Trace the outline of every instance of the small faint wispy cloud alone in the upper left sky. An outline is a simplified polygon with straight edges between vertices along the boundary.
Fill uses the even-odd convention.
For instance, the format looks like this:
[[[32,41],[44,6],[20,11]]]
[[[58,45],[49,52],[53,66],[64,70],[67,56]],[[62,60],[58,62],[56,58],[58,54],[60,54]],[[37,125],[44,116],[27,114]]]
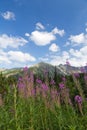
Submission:
[[[1,16],[6,20],[15,20],[15,14],[11,11],[1,13]]]

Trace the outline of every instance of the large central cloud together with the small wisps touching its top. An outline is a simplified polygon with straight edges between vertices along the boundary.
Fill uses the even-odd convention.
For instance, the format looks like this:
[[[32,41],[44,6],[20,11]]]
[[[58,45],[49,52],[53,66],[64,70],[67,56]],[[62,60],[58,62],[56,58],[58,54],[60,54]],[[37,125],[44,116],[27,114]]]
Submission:
[[[45,27],[40,23],[36,23],[36,30],[31,32],[29,38],[38,46],[45,46],[50,44],[52,41],[56,40],[56,34],[63,36],[65,34],[64,30],[60,30],[55,27],[50,32],[44,30]],[[28,35],[27,35],[28,36]]]

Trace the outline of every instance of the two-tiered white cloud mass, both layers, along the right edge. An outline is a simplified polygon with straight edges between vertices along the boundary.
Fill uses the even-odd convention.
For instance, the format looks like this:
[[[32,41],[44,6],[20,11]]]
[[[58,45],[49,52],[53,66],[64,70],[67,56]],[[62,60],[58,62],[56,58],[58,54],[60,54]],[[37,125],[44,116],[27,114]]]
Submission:
[[[87,31],[87,28],[85,31]],[[72,66],[85,66],[87,63],[87,33],[71,35],[65,46],[71,47],[70,45],[74,48],[75,46],[78,46],[78,48],[70,48],[67,49],[67,51],[61,51],[58,55],[50,55],[50,63],[53,65],[59,65],[65,64],[66,60],[68,60]]]

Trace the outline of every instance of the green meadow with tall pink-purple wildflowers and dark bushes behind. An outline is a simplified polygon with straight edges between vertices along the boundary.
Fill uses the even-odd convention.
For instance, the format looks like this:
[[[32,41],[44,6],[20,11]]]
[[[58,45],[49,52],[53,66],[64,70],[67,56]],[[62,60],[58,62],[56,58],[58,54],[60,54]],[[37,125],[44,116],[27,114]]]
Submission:
[[[87,73],[43,75],[0,76],[0,130],[87,130]]]

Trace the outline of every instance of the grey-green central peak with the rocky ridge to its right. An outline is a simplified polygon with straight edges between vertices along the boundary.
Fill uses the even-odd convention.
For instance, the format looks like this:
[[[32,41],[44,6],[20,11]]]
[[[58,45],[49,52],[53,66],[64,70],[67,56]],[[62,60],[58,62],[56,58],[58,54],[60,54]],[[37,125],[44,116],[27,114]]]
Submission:
[[[30,67],[30,70],[33,71],[33,73],[43,73],[45,70],[49,72],[49,75],[54,76],[55,71],[57,74],[61,75],[70,75],[71,73],[82,73],[81,69],[85,69],[87,72],[87,67],[74,67],[74,66],[69,66],[69,65],[58,65],[58,66],[53,66],[51,64],[45,63],[45,62],[40,62],[32,67]]]

